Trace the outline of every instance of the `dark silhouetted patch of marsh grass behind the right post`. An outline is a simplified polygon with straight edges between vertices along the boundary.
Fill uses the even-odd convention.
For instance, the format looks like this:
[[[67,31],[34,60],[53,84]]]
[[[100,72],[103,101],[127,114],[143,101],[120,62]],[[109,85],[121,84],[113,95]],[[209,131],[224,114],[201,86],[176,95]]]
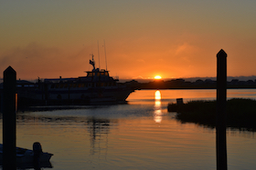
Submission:
[[[168,105],[176,111],[176,119],[198,125],[216,125],[216,101],[190,101],[187,104]],[[233,98],[227,101],[227,127],[256,131],[256,101]]]

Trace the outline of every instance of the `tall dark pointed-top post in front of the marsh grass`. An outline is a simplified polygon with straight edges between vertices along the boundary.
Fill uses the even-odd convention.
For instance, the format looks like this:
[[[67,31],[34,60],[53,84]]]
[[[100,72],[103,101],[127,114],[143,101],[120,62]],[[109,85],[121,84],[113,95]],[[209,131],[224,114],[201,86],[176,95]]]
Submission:
[[[217,119],[216,151],[217,170],[227,170],[227,54],[223,49],[217,54]]]

